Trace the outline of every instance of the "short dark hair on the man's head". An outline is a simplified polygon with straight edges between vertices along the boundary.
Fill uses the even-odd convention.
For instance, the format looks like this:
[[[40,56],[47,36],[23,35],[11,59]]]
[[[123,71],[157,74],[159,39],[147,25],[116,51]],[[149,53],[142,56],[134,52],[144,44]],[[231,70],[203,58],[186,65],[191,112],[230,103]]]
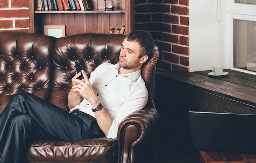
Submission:
[[[148,56],[149,58],[153,55],[154,40],[148,31],[132,31],[127,36],[128,41],[138,42],[142,47],[140,50],[139,58],[142,56]]]

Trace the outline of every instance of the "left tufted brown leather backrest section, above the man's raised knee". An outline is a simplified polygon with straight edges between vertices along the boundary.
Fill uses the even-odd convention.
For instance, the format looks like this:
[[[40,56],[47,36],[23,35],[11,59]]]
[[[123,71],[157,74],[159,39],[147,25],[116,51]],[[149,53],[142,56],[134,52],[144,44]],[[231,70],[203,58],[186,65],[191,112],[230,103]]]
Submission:
[[[48,98],[55,40],[34,33],[0,31],[0,112],[19,91]]]

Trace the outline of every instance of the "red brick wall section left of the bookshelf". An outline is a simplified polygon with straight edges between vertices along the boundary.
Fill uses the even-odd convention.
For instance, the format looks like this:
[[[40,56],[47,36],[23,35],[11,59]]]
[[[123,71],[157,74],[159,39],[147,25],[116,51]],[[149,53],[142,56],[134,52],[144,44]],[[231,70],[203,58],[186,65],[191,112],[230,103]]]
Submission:
[[[0,31],[29,31],[28,0],[0,0]]]

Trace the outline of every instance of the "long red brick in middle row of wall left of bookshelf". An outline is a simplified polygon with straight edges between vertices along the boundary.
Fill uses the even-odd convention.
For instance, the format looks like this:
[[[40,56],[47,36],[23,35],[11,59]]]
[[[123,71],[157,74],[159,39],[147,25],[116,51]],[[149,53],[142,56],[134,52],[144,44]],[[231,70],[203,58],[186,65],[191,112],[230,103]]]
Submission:
[[[0,10],[0,18],[22,18],[29,17],[29,10]]]

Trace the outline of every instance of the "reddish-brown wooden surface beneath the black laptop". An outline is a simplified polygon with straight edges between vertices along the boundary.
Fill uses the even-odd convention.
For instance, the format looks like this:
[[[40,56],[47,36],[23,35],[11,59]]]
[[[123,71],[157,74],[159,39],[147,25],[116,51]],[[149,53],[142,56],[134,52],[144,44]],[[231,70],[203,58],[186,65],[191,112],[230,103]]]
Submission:
[[[256,154],[200,151],[201,163],[256,163]]]

